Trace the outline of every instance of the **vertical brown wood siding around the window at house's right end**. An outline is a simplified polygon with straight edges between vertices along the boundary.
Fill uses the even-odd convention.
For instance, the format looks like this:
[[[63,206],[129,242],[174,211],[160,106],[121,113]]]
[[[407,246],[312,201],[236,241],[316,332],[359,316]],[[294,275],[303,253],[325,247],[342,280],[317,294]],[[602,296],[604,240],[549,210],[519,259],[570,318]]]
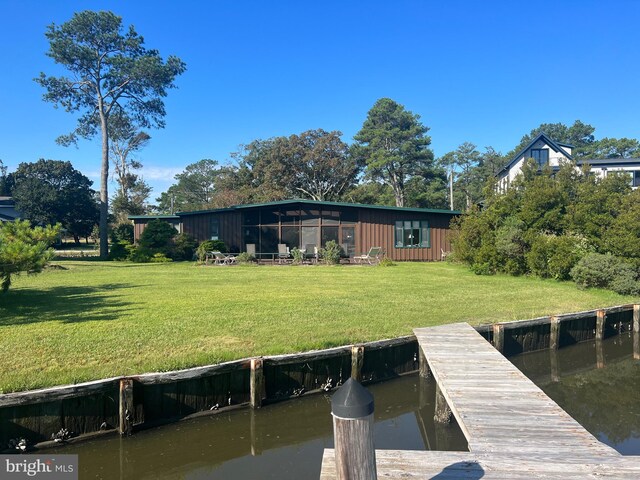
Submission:
[[[384,248],[387,257],[398,261],[440,260],[442,250],[451,250],[448,238],[449,223],[453,215],[447,213],[399,212],[361,208],[358,212],[356,249],[366,253],[371,247]],[[396,248],[395,222],[404,220],[426,220],[431,234],[430,248]]]

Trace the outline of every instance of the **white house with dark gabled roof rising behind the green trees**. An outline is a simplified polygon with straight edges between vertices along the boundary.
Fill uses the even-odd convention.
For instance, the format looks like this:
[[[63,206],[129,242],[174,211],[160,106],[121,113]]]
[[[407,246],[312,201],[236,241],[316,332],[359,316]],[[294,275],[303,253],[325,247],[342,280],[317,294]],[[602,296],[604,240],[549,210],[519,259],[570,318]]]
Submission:
[[[499,191],[504,192],[509,188],[522,171],[527,159],[533,158],[540,168],[549,165],[553,170],[557,170],[562,162],[574,160],[571,155],[572,149],[571,145],[555,142],[544,133],[539,134],[498,172],[496,176]],[[591,173],[599,177],[611,174],[626,175],[633,188],[640,186],[640,158],[579,158],[575,163],[578,168],[589,165]]]

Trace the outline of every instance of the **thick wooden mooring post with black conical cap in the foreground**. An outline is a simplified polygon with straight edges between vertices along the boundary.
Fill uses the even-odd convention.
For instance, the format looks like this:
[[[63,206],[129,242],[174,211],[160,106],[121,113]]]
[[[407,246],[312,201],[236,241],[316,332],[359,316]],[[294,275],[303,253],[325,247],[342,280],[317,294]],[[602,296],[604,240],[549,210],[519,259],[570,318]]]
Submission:
[[[331,398],[337,480],[375,480],[373,396],[353,378]]]

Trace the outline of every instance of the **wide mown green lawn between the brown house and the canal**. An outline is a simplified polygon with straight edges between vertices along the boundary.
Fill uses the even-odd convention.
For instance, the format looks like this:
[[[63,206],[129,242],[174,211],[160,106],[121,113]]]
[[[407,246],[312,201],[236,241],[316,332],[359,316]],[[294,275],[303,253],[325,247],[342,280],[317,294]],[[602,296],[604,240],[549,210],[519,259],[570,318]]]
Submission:
[[[447,263],[58,265],[0,296],[0,392],[638,301]]]

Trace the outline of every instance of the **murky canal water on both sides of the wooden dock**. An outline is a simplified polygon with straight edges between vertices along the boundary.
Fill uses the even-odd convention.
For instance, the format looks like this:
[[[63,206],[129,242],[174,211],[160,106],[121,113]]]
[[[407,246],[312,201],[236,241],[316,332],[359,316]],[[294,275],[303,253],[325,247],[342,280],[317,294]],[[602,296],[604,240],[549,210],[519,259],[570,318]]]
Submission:
[[[640,455],[640,360],[631,334],[510,360],[599,440]],[[467,450],[455,420],[433,422],[433,380],[408,375],[368,389],[376,448]],[[333,447],[330,402],[331,394],[309,395],[54,451],[79,455],[81,479],[317,479],[322,453]]]

